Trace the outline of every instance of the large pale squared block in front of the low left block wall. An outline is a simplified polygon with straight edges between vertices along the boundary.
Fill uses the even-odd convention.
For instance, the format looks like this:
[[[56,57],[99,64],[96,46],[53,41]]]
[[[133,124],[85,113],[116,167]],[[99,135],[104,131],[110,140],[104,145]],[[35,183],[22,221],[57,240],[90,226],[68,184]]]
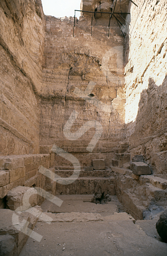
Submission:
[[[34,188],[17,186],[16,188],[10,190],[7,194],[7,205],[12,211],[16,210],[18,207],[23,205],[23,195],[26,193],[26,204],[25,209],[29,209],[37,205],[37,191]],[[27,207],[27,208],[26,208]]]

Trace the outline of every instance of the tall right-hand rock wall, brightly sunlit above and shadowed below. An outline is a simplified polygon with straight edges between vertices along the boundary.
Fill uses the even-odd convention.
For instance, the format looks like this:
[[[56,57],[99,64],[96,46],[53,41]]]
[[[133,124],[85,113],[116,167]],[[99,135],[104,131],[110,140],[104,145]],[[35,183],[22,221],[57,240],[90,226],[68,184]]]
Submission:
[[[155,174],[167,162],[167,2],[141,0],[131,5],[126,44],[125,122],[130,152],[143,154]],[[164,152],[164,154],[161,153]]]

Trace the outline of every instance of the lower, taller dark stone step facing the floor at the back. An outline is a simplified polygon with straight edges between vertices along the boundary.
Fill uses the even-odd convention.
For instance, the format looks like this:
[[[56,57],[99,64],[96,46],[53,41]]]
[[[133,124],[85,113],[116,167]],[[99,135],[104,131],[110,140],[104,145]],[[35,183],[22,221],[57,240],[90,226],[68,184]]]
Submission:
[[[115,195],[114,177],[79,177],[77,180],[66,178],[71,184],[56,183],[56,193],[67,194],[102,194]]]

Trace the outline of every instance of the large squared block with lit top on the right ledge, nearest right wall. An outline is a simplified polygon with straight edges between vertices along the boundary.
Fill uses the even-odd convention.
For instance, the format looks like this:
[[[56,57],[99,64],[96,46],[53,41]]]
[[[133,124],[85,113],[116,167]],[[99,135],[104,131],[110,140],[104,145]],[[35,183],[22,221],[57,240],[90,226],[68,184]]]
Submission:
[[[143,162],[132,162],[131,170],[135,175],[150,175],[151,169],[150,167]]]

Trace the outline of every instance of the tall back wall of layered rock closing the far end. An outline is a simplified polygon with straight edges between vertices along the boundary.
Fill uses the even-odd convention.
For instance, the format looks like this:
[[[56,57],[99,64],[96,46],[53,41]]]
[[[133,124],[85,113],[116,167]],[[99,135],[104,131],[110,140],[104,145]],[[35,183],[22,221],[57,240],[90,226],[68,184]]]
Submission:
[[[75,20],[74,37],[73,23],[73,17],[46,17],[40,145],[56,144],[76,153],[83,166],[89,165],[92,157],[106,158],[109,164],[115,145],[124,140],[124,37],[113,18],[109,38],[108,18],[93,17],[92,37],[90,17]],[[88,90],[90,83],[94,85]],[[90,127],[76,140],[70,140],[63,132],[73,111],[78,116],[76,113],[71,133],[89,121],[103,127],[93,155],[86,148],[95,128]],[[103,154],[106,152],[107,156]]]

